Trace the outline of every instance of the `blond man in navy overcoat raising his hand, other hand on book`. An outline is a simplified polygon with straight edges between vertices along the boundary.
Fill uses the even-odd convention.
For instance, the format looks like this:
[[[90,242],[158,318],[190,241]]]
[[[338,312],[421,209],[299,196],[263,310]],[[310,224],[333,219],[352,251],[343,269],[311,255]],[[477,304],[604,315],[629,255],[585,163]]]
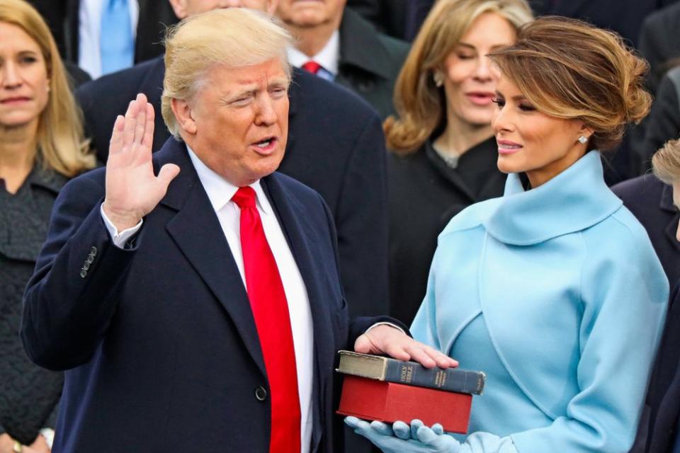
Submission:
[[[336,452],[336,350],[455,365],[389,319],[348,321],[327,207],[276,172],[289,42],[244,8],[184,21],[162,103],[181,141],[152,156],[140,94],[106,168],[60,193],[21,326],[67,370],[52,452]]]

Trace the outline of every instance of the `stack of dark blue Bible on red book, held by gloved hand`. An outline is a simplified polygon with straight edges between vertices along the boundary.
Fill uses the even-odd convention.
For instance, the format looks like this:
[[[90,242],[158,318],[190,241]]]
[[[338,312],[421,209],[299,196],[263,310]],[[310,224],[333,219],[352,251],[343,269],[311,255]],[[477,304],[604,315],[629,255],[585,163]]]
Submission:
[[[344,374],[338,413],[387,423],[414,418],[448,432],[467,432],[472,395],[482,394],[486,375],[458,368],[426,368],[379,355],[339,351]]]

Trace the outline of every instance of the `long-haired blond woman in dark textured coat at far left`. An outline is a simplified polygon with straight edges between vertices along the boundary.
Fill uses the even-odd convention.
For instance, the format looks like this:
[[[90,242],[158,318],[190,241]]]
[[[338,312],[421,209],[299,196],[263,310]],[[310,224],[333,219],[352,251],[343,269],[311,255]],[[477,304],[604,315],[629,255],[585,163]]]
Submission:
[[[21,298],[57,193],[92,167],[50,30],[25,1],[0,0],[0,453],[50,450],[40,430],[50,427],[62,374],[26,357]]]

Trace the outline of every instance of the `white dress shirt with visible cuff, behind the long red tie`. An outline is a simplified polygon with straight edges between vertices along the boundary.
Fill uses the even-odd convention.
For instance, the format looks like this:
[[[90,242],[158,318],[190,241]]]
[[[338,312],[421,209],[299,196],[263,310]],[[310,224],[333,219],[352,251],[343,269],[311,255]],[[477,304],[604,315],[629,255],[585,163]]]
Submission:
[[[237,186],[232,185],[214,171],[203,164],[198,156],[188,148],[189,156],[198,179],[203,185],[212,208],[217,214],[222,231],[225,234],[229,249],[232,251],[236,265],[239,268],[244,287],[246,286],[243,254],[241,251],[240,218],[241,210],[237,204],[231,201],[238,190]],[[290,314],[290,328],[293,331],[293,343],[295,348],[295,364],[297,365],[297,391],[300,396],[300,413],[302,420],[300,423],[300,441],[302,445],[301,453],[310,451],[312,441],[312,379],[314,377],[314,324],[312,323],[312,311],[310,309],[307,288],[302,280],[300,270],[297,268],[293,253],[288,247],[281,226],[276,219],[269,200],[257,180],[251,184],[251,188],[256,193],[256,207],[262,219],[262,226],[274,260],[278,267],[278,272],[283,282],[285,299],[288,302],[288,313]],[[125,231],[120,231],[113,226],[113,223],[106,217],[101,209],[101,215],[106,224],[113,243],[123,248],[125,242],[130,239],[142,226],[142,221]],[[200,222],[200,219],[196,219]],[[218,263],[215,263],[217,265]],[[228,263],[224,263],[228,265]]]

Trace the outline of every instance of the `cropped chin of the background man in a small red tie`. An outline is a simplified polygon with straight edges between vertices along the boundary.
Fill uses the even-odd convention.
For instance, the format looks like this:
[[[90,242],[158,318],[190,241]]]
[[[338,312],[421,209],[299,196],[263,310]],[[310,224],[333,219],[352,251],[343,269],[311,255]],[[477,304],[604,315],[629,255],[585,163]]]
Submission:
[[[296,28],[312,28],[325,24],[334,24],[337,28],[345,4],[346,0],[280,0],[276,16]]]

